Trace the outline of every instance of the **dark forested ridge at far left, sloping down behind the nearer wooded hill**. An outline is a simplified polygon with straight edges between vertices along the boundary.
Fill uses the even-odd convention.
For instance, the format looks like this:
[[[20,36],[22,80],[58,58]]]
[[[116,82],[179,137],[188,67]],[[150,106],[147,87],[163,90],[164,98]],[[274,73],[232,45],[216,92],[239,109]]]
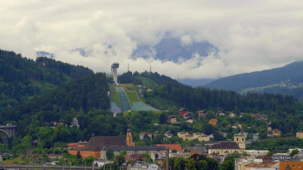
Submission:
[[[46,57],[33,61],[21,54],[0,50],[0,111],[17,107],[34,96],[88,74],[93,74],[93,71],[82,66]]]

